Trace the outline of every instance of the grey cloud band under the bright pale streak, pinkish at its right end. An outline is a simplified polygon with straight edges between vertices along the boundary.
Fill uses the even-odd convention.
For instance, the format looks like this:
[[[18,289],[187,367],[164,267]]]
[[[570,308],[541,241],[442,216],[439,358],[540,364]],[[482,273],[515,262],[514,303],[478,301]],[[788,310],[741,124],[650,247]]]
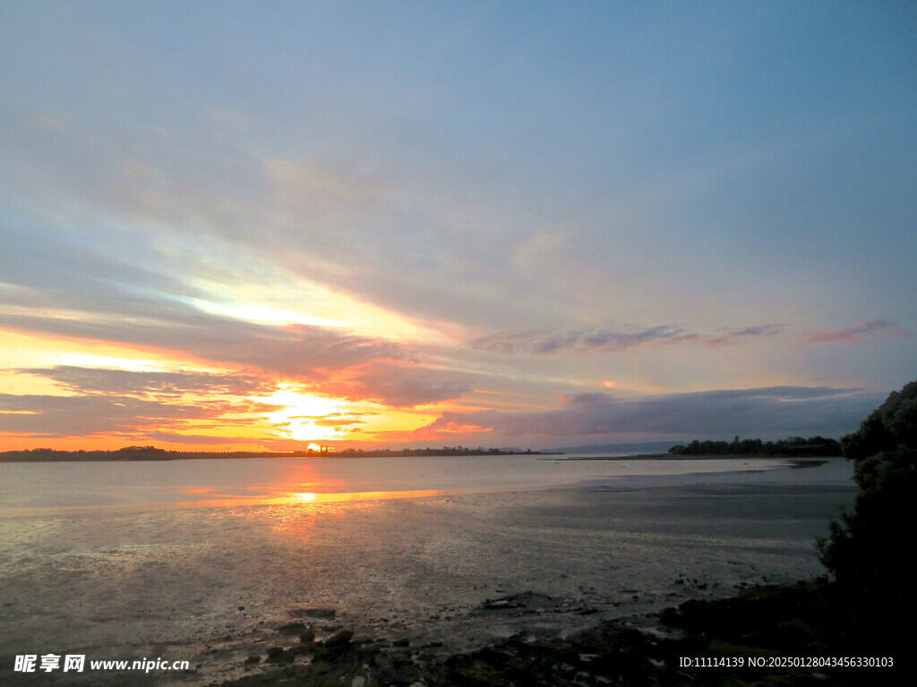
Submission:
[[[193,300],[212,295],[138,265],[151,248],[130,233],[82,234],[34,218],[0,221],[5,329],[154,348],[291,377],[321,378],[328,370],[409,357],[400,344],[337,327],[262,324],[201,311]]]

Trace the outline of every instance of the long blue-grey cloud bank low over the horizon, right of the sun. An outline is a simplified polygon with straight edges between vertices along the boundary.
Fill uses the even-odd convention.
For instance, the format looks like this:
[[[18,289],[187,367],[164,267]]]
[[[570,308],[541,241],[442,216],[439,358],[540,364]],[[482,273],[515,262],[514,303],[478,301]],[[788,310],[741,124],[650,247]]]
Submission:
[[[563,397],[562,401],[562,408],[543,412],[446,412],[423,429],[466,427],[502,436],[558,439],[635,434],[839,436],[855,430],[881,396],[833,387],[762,387],[640,399],[590,393]]]

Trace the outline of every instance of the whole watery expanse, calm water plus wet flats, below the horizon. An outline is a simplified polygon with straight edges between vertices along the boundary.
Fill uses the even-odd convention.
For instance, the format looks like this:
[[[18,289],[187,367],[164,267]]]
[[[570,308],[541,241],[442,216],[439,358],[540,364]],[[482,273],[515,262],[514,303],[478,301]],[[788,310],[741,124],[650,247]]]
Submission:
[[[204,687],[309,606],[444,654],[638,622],[820,573],[814,538],[855,495],[842,459],[570,457],[0,463],[0,664],[167,657],[201,667],[175,684]],[[481,610],[527,591],[557,612]]]

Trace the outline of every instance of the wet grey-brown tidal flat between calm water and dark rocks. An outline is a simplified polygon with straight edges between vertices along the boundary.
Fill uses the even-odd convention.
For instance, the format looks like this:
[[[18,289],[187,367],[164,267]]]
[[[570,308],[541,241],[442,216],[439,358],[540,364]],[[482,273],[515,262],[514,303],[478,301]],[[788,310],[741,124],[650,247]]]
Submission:
[[[18,684],[16,654],[162,657],[193,672],[149,683],[209,684],[259,670],[246,659],[304,618],[319,637],[349,627],[431,655],[601,619],[652,624],[646,614],[686,598],[822,573],[814,538],[852,503],[850,474],[833,460],[503,494],[4,518],[0,665]]]

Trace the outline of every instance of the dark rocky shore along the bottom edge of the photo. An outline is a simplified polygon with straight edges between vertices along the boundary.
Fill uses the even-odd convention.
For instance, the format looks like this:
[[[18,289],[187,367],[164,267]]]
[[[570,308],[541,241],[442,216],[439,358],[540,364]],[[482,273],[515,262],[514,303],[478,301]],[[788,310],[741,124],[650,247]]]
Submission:
[[[649,616],[648,627],[604,620],[571,634],[523,630],[451,654],[441,643],[361,636],[338,627],[333,609],[296,609],[291,615],[300,619],[276,627],[277,643],[246,660],[250,674],[219,687],[726,687],[898,679],[901,662],[897,669],[774,665],[785,657],[827,658],[857,649],[836,622],[825,589],[821,582],[756,587],[669,608]],[[480,611],[537,616],[558,603],[526,592],[488,600]]]

